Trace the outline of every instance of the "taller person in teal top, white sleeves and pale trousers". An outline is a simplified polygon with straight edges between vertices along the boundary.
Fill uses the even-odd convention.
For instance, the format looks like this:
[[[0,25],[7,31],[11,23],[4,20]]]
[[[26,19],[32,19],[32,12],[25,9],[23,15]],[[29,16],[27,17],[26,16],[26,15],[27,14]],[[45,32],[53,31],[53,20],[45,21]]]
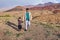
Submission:
[[[32,20],[32,15],[29,12],[29,8],[26,8],[26,13],[24,14],[25,31],[27,31],[28,27],[30,26],[30,21],[31,20]]]

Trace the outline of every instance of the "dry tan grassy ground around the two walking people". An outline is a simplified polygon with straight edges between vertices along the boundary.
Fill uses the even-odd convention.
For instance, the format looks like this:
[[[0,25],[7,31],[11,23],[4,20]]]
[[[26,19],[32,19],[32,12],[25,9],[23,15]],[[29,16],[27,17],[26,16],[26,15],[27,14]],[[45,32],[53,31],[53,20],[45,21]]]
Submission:
[[[33,20],[28,31],[17,31],[17,18],[25,11],[0,13],[0,40],[60,40],[60,14],[48,10],[31,10]],[[12,26],[6,23],[13,24]],[[22,23],[23,28],[24,23]]]

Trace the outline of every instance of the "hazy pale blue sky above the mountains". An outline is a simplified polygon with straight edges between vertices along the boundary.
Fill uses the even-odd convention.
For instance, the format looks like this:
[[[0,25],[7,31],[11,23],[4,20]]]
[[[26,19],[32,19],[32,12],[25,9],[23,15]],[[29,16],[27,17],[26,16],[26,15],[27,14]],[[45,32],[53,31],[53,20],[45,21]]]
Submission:
[[[60,0],[0,0],[0,9],[15,7],[17,5],[37,5],[46,2],[59,3]]]

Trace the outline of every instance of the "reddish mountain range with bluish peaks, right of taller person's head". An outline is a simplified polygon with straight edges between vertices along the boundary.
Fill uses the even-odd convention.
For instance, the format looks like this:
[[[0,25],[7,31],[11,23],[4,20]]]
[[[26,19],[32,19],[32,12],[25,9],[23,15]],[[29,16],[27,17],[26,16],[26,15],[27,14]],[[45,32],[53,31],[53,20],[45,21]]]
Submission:
[[[60,9],[60,3],[52,3],[52,2],[48,2],[45,4],[38,4],[32,8],[30,8],[31,10],[52,10],[52,9]]]

